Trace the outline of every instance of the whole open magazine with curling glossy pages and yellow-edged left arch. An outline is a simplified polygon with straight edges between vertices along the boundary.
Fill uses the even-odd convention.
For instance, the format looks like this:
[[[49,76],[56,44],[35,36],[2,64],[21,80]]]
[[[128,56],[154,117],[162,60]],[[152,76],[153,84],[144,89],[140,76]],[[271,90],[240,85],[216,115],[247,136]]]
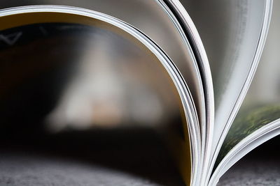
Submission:
[[[50,134],[151,127],[186,185],[216,185],[280,133],[280,15],[270,0],[27,0],[0,8],[4,132],[19,121]]]

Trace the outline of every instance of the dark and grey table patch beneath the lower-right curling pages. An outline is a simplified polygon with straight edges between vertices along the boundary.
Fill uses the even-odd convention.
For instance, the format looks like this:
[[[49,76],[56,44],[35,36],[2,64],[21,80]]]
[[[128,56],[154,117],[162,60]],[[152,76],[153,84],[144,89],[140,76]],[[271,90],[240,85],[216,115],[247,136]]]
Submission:
[[[262,144],[225,173],[218,186],[280,185],[280,137]]]

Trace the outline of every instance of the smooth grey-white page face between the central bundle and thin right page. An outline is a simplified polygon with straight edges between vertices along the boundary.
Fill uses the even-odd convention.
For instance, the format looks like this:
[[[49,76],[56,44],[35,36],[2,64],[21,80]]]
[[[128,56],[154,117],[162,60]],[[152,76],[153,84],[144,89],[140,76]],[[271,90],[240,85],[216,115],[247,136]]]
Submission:
[[[216,148],[248,77],[262,29],[265,1],[182,1],[209,58],[215,95]],[[214,152],[213,152],[214,153]]]

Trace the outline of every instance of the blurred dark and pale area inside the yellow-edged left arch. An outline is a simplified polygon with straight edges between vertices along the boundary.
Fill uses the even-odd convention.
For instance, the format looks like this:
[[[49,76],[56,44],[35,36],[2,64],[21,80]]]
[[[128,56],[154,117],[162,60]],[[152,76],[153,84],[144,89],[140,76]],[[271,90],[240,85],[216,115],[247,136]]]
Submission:
[[[148,52],[112,31],[35,24],[2,32],[1,118],[50,132],[155,127],[180,117],[175,87]],[[16,116],[16,117],[15,117]],[[24,124],[25,123],[25,124]],[[2,125],[2,126],[3,126]]]

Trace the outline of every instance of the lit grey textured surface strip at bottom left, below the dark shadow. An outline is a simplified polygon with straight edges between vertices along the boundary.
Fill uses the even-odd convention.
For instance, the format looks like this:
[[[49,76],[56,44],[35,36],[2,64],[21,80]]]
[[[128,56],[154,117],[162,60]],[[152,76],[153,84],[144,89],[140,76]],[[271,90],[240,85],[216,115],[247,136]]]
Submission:
[[[28,155],[1,155],[0,185],[160,185],[130,173],[82,162]]]

